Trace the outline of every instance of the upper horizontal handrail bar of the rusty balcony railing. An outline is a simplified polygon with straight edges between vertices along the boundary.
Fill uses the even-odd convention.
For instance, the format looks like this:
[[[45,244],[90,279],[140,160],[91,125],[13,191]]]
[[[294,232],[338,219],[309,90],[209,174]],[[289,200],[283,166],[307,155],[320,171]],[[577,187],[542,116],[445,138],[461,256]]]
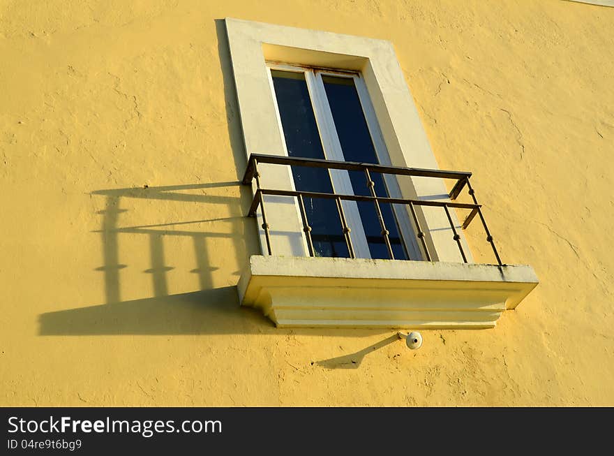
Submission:
[[[471,176],[468,171],[429,170],[422,168],[403,168],[400,166],[383,166],[373,163],[358,163],[355,161],[334,161],[323,159],[304,159],[292,156],[251,154],[248,166],[243,177],[243,184],[248,185],[254,177],[254,160],[258,163],[270,163],[273,165],[309,166],[311,168],[329,168],[336,170],[380,172],[382,174],[394,174],[415,177],[439,177],[440,179],[458,179],[465,181]],[[458,185],[458,182],[457,182]],[[464,184],[463,184],[464,185]],[[455,186],[456,188],[456,186]],[[462,187],[461,187],[462,188]]]

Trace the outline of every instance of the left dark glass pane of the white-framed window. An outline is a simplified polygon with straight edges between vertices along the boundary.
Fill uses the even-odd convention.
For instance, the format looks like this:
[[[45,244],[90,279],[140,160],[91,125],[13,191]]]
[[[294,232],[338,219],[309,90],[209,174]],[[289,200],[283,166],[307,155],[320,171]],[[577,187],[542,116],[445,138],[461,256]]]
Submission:
[[[271,70],[289,156],[324,159],[304,73]],[[328,170],[292,166],[297,191],[333,193]],[[316,256],[349,256],[334,200],[304,198]],[[271,227],[272,228],[272,227]]]

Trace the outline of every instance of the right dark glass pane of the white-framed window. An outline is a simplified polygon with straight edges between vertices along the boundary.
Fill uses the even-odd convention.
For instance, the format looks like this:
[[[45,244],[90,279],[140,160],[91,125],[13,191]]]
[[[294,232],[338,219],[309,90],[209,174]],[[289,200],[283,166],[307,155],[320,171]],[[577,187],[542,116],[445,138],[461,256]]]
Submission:
[[[379,163],[358,98],[358,92],[354,85],[354,79],[323,75],[322,82],[324,82],[324,89],[331,107],[345,161]],[[382,175],[372,172],[371,179],[375,182],[377,196],[389,196]],[[354,194],[370,196],[364,172],[350,171],[350,180]],[[389,240],[394,258],[398,260],[409,259],[391,205],[380,203],[380,208],[386,228],[389,230]],[[358,203],[358,209],[367,236],[371,258],[389,258],[375,205],[361,201]]]

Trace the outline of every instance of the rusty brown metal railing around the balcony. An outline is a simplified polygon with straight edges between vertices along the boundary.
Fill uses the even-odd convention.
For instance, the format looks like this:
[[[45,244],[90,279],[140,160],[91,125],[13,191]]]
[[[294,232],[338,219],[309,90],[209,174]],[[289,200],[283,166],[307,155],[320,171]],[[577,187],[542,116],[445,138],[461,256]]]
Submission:
[[[312,168],[326,168],[328,170],[336,169],[336,170],[347,170],[347,171],[362,171],[365,173],[366,177],[366,186],[369,189],[370,196],[359,196],[359,195],[338,195],[336,193],[320,193],[313,191],[291,191],[291,190],[276,190],[276,189],[263,189],[260,185],[260,172],[258,172],[258,163],[269,163],[273,165],[283,165],[283,166],[308,166]],[[465,185],[467,186],[468,193],[473,199],[473,204],[470,203],[447,203],[442,201],[426,201],[426,200],[412,200],[408,198],[389,198],[384,196],[377,196],[375,193],[375,183],[371,179],[370,173],[375,172],[379,174],[389,174],[389,175],[398,175],[398,176],[413,176],[413,177],[434,177],[437,179],[454,179],[456,183],[452,187],[452,190],[449,193],[450,200],[456,200],[460,195],[461,191],[463,191]],[[341,232],[343,233],[343,237],[345,238],[345,243],[347,244],[347,251],[350,253],[350,258],[355,258],[354,255],[354,247],[352,245],[352,237],[350,236],[350,227],[347,226],[347,222],[345,219],[345,214],[343,212],[343,205],[341,201],[370,201],[375,205],[375,212],[377,214],[377,219],[380,222],[380,227],[382,228],[382,237],[384,238],[384,243],[386,244],[389,258],[394,260],[394,253],[392,251],[392,247],[389,239],[389,230],[387,230],[386,223],[384,223],[384,217],[382,216],[382,210],[380,209],[380,203],[392,203],[399,205],[406,205],[410,209],[410,214],[412,215],[412,219],[414,220],[414,224],[416,226],[416,236],[420,240],[422,248],[424,249],[424,254],[428,261],[431,260],[430,252],[428,251],[428,246],[425,240],[424,231],[421,228],[418,215],[416,212],[416,206],[430,206],[430,207],[442,207],[444,212],[446,213],[447,219],[450,223],[450,228],[453,233],[453,238],[458,245],[458,250],[461,252],[461,256],[463,257],[463,261],[467,263],[467,256],[465,255],[465,251],[463,250],[463,246],[461,244],[461,236],[458,235],[456,231],[456,227],[454,226],[454,221],[450,214],[450,208],[454,209],[470,209],[470,213],[465,217],[461,228],[463,230],[469,226],[471,221],[474,219],[476,215],[479,215],[481,219],[482,226],[484,226],[484,231],[486,232],[486,241],[491,244],[493,248],[493,252],[495,253],[495,258],[497,258],[497,263],[500,266],[503,266],[501,262],[501,258],[499,257],[499,253],[495,247],[495,242],[493,242],[493,236],[491,232],[488,230],[488,226],[486,225],[486,220],[484,219],[484,214],[481,212],[481,205],[478,204],[477,198],[475,197],[475,191],[472,188],[469,178],[471,177],[471,172],[465,171],[444,171],[444,170],[428,170],[428,169],[420,169],[420,168],[401,168],[398,166],[382,166],[375,165],[372,163],[356,163],[356,162],[348,162],[348,161],[332,161],[332,160],[322,160],[322,159],[302,159],[298,157],[290,157],[290,156],[278,156],[278,155],[263,155],[263,154],[251,154],[248,166],[243,177],[243,184],[249,185],[252,183],[253,179],[256,181],[256,191],[254,198],[252,200],[252,204],[250,206],[248,216],[255,216],[258,207],[260,207],[260,212],[262,214],[262,229],[264,230],[264,237],[267,241],[267,251],[269,255],[272,255],[271,250],[271,236],[269,233],[270,226],[267,222],[267,214],[264,208],[264,195],[270,196],[292,196],[297,198],[299,203],[299,211],[301,213],[301,221],[303,223],[303,231],[305,233],[308,252],[310,256],[315,256],[315,251],[313,249],[313,242],[311,240],[311,227],[309,226],[309,221],[307,219],[307,212],[305,210],[304,198],[324,198],[324,199],[332,199],[336,201],[337,210],[339,213],[339,220],[341,226]]]

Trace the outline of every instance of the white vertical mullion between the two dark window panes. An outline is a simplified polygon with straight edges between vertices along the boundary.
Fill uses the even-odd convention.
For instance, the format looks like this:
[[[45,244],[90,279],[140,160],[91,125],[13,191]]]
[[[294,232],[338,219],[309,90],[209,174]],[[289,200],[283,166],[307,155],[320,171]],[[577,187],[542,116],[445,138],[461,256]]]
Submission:
[[[345,161],[341,143],[339,141],[329,102],[324,90],[322,76],[313,70],[306,71],[307,87],[311,96],[313,111],[317,128],[320,130],[322,147],[327,160]],[[340,195],[353,195],[350,175],[345,170],[329,170],[335,193]],[[343,201],[343,212],[347,225],[352,229],[351,237],[354,244],[354,253],[357,258],[371,258],[367,238],[362,226],[358,205],[355,201]]]

